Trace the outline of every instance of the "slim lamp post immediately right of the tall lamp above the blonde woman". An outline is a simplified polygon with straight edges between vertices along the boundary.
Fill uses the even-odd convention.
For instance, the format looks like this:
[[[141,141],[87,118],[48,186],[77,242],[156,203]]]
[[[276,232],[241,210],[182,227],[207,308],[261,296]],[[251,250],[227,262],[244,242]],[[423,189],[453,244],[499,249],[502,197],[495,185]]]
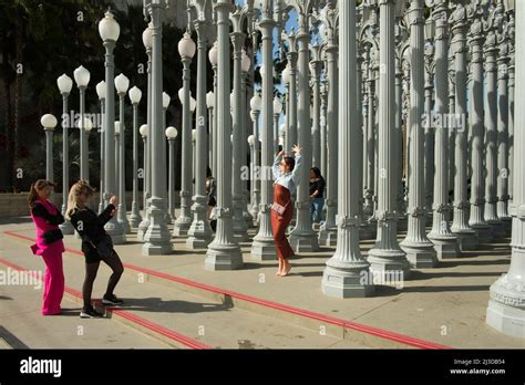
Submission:
[[[130,80],[124,75],[120,74],[115,77],[115,89],[119,94],[119,104],[120,104],[120,144],[119,144],[119,210],[117,210],[117,220],[124,227],[126,233],[131,232],[130,222],[127,221],[126,216],[126,171],[125,171],[125,122],[124,122],[124,97],[130,87]]]

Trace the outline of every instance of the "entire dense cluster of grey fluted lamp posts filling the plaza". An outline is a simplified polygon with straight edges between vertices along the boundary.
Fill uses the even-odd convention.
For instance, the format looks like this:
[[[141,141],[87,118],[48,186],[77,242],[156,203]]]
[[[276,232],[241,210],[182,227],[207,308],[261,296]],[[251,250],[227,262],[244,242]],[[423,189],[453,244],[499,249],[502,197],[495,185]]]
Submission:
[[[521,132],[525,122],[518,115],[515,123],[514,105],[521,105],[525,96],[525,87],[519,87],[523,80],[515,74],[516,63],[525,60],[525,50],[515,46],[519,44],[515,32],[523,30],[521,21],[525,20],[524,4],[515,9],[513,1],[504,0],[368,0],[357,7],[353,1],[336,0],[247,0],[233,6],[229,0],[189,0],[192,20],[178,43],[181,133],[166,128],[163,118],[171,102],[162,87],[165,6],[165,1],[145,1],[151,20],[143,34],[148,55],[147,124],[138,131],[144,143],[145,212],[141,221],[134,180],[130,222],[125,199],[121,199],[119,220],[107,225],[117,242],[125,240],[128,227],[138,227],[144,254],[172,253],[167,225],[174,220],[173,236],[187,237],[188,248],[207,250],[207,269],[239,269],[244,263],[239,242],[248,241],[248,229],[256,226],[251,258],[275,260],[269,211],[272,180],[265,169],[271,167],[279,145],[290,152],[299,144],[303,167],[290,244],[299,253],[336,247],[321,281],[327,295],[373,295],[373,280],[363,277],[409,278],[412,269],[436,267],[475,249],[478,242],[508,235],[512,227],[513,262],[508,274],[491,288],[487,322],[508,334],[523,335],[525,190],[522,175],[514,173],[523,155],[514,148],[525,145]],[[425,6],[431,11],[428,20]],[[288,24],[291,18],[294,28]],[[101,188],[107,199],[117,192],[117,186],[119,195],[125,192],[122,111],[130,84],[122,74],[113,79],[112,52],[120,29],[111,12],[99,29],[106,48],[105,83],[100,84],[100,92],[97,85],[97,93],[105,117]],[[206,52],[212,29],[217,40]],[[258,51],[255,31],[261,35],[260,92],[249,90]],[[281,55],[282,44],[287,46],[281,89],[286,96],[280,100],[274,92],[274,59],[275,51]],[[193,98],[189,65],[195,55]],[[213,85],[206,84],[206,60],[214,70]],[[90,77],[82,66],[74,75],[81,92],[81,154],[86,156],[82,144],[89,124],[83,119],[83,100]],[[65,112],[72,83],[64,76],[58,82]],[[105,86],[113,82],[121,102],[120,125],[114,118],[114,89]],[[142,93],[133,87],[128,94],[134,106],[136,175],[136,106]],[[284,124],[281,115],[286,115]],[[453,117],[464,124],[451,125]],[[52,133],[53,123],[42,118],[47,132]],[[178,135],[182,188],[175,219],[174,141]],[[248,163],[249,194],[241,180]],[[215,235],[207,218],[208,166],[217,181]],[[312,166],[327,174],[326,220],[319,228],[310,220]],[[52,174],[49,167],[48,173]],[[81,176],[89,177],[86,158]],[[63,180],[66,184],[68,177]],[[432,225],[429,233],[428,225]],[[399,243],[401,229],[406,235]],[[372,237],[375,244],[364,257],[359,240]]]

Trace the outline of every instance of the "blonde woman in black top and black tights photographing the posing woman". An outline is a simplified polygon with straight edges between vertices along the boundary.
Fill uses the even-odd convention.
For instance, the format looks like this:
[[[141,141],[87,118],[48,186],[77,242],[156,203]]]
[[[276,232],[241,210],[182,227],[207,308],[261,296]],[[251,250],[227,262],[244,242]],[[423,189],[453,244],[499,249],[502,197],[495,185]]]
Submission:
[[[70,190],[68,198],[68,210],[65,216],[71,220],[71,223],[82,238],[82,252],[85,257],[85,279],[82,285],[82,296],[84,306],[80,316],[83,319],[102,318],[91,304],[91,293],[93,291],[93,283],[99,271],[101,261],[104,261],[113,273],[107,282],[107,289],[102,298],[102,303],[105,305],[120,305],[124,303],[113,293],[124,267],[122,266],[119,254],[113,249],[111,237],[105,232],[104,225],[107,223],[116,212],[116,205],[119,199],[113,196],[110,204],[97,216],[91,210],[86,202],[93,195],[94,189],[86,181],[80,180],[75,183]]]

